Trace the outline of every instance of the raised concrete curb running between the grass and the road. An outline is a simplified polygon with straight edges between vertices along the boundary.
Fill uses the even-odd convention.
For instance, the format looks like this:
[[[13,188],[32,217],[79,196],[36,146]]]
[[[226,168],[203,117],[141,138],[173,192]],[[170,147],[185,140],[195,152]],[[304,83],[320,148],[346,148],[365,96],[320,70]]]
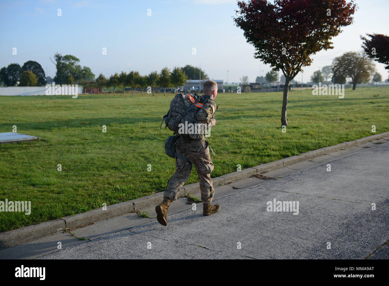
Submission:
[[[255,174],[272,171],[301,161],[319,157],[327,153],[336,152],[353,146],[359,146],[369,141],[378,140],[388,136],[389,131],[353,141],[343,142],[337,145],[302,153],[301,155],[288,157],[282,160],[277,160],[274,162],[243,169],[242,171],[233,172],[220,177],[212,178],[212,181],[214,183],[214,187],[225,185],[237,180],[248,178]],[[192,194],[200,192],[199,183],[193,183],[190,185],[183,186],[180,189],[178,197],[184,197],[189,192],[191,192]],[[156,206],[162,201],[162,199],[163,192],[159,192],[145,197],[140,197],[132,201],[112,204],[110,206],[107,206],[106,210],[103,210],[102,208],[93,209],[91,211],[86,211],[85,213],[65,216],[57,220],[45,221],[36,225],[29,225],[28,227],[9,230],[7,232],[0,233],[0,249],[7,248],[9,246],[14,246],[23,242],[32,241],[34,239],[44,237],[46,235],[57,233],[63,230],[63,228],[80,227],[91,222],[105,220],[107,218],[112,218],[115,216],[123,215],[125,213],[130,213],[131,211],[138,211],[140,209]]]

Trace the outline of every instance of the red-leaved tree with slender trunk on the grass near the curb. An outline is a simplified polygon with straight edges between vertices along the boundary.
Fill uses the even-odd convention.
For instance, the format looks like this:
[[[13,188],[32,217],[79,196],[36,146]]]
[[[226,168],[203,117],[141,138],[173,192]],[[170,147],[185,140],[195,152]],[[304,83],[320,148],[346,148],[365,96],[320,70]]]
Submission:
[[[284,73],[281,124],[287,126],[290,81],[312,63],[310,55],[333,49],[329,40],[352,23],[356,5],[353,0],[251,0],[238,1],[238,7],[234,21],[254,45],[254,58]]]

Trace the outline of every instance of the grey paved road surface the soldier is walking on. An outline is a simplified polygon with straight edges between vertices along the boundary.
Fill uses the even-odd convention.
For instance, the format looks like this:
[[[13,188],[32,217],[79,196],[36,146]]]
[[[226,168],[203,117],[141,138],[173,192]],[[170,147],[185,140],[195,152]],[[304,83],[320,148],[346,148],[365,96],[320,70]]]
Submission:
[[[216,197],[215,215],[198,204],[168,213],[167,227],[151,219],[40,258],[388,259],[389,141],[379,142],[248,178],[240,186],[256,185]],[[267,211],[273,200],[298,202],[298,214]]]

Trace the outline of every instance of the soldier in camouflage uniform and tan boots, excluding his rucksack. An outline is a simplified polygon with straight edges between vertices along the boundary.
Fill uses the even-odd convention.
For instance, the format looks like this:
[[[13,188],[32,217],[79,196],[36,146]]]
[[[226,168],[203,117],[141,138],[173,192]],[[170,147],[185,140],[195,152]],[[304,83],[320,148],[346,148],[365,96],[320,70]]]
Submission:
[[[209,101],[196,113],[196,119],[202,123],[215,126],[216,120],[212,118],[216,111],[216,103],[214,99],[217,95],[217,83],[214,80],[207,80],[203,86],[204,97],[209,97]],[[180,192],[180,188],[188,180],[192,171],[192,164],[195,165],[198,180],[200,182],[201,200],[203,201],[203,215],[209,216],[216,213],[220,209],[220,205],[211,205],[214,199],[214,187],[210,173],[214,169],[211,157],[209,155],[208,142],[204,135],[199,139],[192,139],[185,134],[180,134],[175,144],[177,154],[188,159],[191,163],[187,163],[180,158],[175,157],[176,172],[168,181],[165,193],[163,194],[163,202],[155,207],[157,220],[161,225],[167,225],[166,214],[169,205],[175,201]]]

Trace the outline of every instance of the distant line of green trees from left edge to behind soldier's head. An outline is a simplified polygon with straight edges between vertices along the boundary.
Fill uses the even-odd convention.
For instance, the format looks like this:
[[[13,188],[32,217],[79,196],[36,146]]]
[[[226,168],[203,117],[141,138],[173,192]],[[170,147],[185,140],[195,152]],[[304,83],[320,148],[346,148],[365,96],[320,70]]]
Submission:
[[[56,84],[80,84],[88,88],[105,87],[106,93],[108,88],[116,89],[131,88],[131,94],[135,88],[142,90],[142,95],[145,87],[150,87],[154,95],[155,87],[162,87],[164,95],[166,87],[175,87],[178,89],[186,83],[186,80],[197,80],[208,78],[207,73],[196,66],[186,65],[184,67],[173,67],[170,70],[165,67],[161,72],[153,71],[148,75],[140,75],[137,71],[129,73],[115,73],[109,78],[106,78],[102,73],[95,79],[95,75],[87,66],[81,67],[79,59],[72,55],[62,56],[54,54],[54,59],[51,61],[56,66],[57,72],[54,77]],[[0,81],[6,86],[15,86],[19,82],[19,86],[43,86],[46,85],[46,77],[42,66],[36,61],[28,61],[22,67],[19,64],[10,64],[0,70]]]

